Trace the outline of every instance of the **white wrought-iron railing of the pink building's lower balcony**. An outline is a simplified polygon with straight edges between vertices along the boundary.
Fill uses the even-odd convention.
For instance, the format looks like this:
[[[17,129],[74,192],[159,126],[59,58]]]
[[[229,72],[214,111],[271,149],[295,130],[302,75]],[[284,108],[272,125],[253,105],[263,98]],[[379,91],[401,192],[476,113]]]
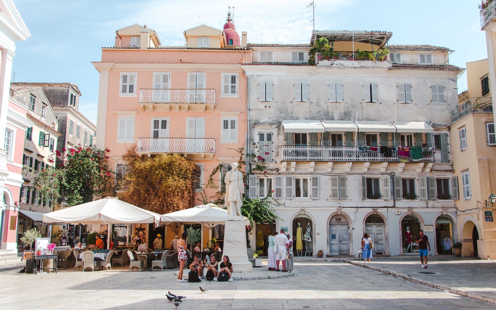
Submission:
[[[143,153],[215,153],[213,138],[138,138]]]

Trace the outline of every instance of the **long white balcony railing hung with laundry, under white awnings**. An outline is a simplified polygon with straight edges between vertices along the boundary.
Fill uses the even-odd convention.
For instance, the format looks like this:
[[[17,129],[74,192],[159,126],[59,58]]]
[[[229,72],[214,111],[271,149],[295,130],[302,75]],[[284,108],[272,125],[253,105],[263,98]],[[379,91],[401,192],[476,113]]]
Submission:
[[[286,161],[351,161],[351,162],[397,162],[399,161],[398,152],[392,149],[392,152],[380,153],[380,147],[377,150],[370,148],[364,149],[355,146],[295,146],[284,145],[282,147],[282,160]],[[411,147],[410,160],[412,158],[412,149],[422,149],[422,158],[417,159],[419,162],[441,162],[441,150],[430,150],[424,147]],[[435,154],[435,155],[434,155]]]

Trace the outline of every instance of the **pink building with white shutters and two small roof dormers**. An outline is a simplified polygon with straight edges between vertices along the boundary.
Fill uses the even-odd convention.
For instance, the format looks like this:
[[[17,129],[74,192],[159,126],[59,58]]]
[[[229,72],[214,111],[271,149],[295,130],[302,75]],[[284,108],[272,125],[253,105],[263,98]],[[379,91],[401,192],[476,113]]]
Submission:
[[[184,32],[185,46],[165,47],[154,30],[134,24],[102,48],[101,62],[93,62],[100,72],[96,143],[111,150],[116,171],[132,144],[144,156],[187,154],[200,168],[201,191],[219,164],[239,160],[233,149],[246,149],[247,130],[241,64],[251,62],[251,51],[230,20],[225,29],[194,27]],[[215,191],[205,189],[207,197]]]

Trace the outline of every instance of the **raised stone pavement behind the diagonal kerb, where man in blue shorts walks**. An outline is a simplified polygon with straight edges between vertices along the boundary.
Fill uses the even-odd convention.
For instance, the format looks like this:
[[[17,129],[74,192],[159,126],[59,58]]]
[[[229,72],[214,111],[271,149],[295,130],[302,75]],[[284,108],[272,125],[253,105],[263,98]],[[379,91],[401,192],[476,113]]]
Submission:
[[[372,258],[371,263],[349,259],[342,260],[434,288],[448,290],[451,293],[496,304],[496,260],[451,255],[429,256],[427,269],[421,268],[422,265],[418,256]],[[419,272],[434,272],[434,274]]]

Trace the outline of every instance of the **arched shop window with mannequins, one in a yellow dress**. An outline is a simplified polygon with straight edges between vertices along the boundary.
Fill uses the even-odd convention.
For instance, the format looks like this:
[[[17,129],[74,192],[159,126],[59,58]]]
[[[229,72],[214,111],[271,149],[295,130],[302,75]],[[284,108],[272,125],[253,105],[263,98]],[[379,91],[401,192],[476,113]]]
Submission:
[[[308,215],[300,214],[293,220],[293,253],[295,256],[313,256],[312,222]]]

